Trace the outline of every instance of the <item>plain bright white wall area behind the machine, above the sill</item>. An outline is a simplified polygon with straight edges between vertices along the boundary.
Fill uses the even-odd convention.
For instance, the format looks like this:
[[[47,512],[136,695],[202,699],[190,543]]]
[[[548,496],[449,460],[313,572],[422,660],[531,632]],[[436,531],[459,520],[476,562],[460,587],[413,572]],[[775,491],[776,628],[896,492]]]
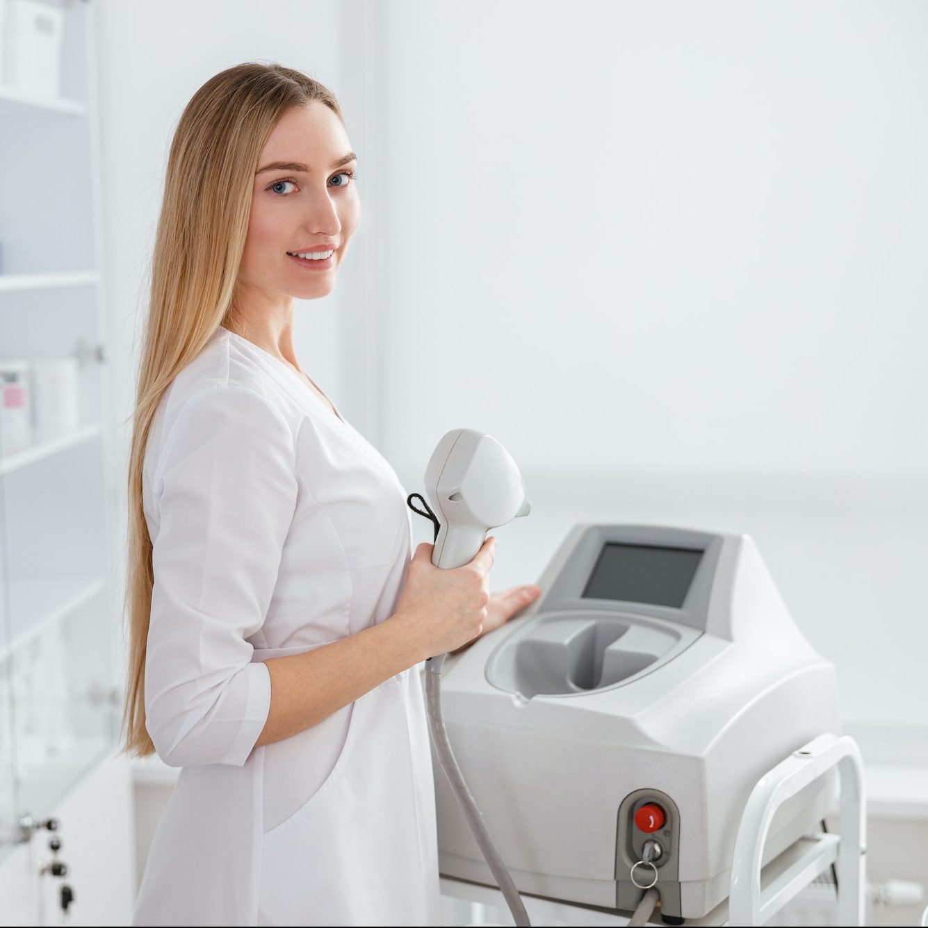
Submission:
[[[584,519],[749,532],[848,720],[924,726],[928,6],[379,9],[409,491],[448,429],[509,448],[536,505],[501,586]]]

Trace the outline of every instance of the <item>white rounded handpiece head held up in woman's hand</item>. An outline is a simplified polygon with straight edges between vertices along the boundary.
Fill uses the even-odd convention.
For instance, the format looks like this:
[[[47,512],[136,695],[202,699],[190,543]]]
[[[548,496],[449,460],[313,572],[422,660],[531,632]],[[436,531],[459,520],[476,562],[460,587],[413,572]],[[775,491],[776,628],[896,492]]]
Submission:
[[[472,561],[491,528],[532,509],[516,462],[476,429],[445,434],[425,469],[425,492],[441,523],[432,564],[447,569]]]

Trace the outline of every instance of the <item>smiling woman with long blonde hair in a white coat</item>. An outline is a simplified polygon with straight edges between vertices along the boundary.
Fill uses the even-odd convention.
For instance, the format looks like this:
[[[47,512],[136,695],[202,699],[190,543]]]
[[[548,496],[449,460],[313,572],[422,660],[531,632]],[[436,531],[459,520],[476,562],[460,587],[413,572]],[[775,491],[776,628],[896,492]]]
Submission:
[[[360,215],[335,97],[213,76],[174,133],[129,463],[123,750],[181,767],[133,924],[441,924],[419,665],[502,625],[470,564],[410,558],[390,464],[303,372]],[[330,253],[329,253],[330,252]]]

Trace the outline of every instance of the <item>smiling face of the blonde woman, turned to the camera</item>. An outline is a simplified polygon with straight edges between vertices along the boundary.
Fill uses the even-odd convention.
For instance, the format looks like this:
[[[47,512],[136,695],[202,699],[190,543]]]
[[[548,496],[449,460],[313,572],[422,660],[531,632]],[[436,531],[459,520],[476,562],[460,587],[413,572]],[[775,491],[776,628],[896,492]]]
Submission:
[[[350,152],[342,122],[325,104],[292,107],[277,122],[258,160],[251,192],[238,271],[246,293],[263,291],[260,296],[272,301],[276,294],[313,300],[335,286],[361,214],[351,175],[355,161],[337,163]],[[276,162],[289,163],[271,167]],[[324,261],[290,257],[332,249]]]

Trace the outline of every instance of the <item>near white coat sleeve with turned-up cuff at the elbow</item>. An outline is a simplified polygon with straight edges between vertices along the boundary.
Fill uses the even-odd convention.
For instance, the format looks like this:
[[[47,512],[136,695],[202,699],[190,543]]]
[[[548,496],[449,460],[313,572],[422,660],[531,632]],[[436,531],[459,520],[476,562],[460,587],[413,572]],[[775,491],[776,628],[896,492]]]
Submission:
[[[296,506],[290,427],[248,387],[204,388],[167,432],[153,492],[146,728],[170,767],[241,767],[270,710],[270,674],[246,638],[264,623]]]

